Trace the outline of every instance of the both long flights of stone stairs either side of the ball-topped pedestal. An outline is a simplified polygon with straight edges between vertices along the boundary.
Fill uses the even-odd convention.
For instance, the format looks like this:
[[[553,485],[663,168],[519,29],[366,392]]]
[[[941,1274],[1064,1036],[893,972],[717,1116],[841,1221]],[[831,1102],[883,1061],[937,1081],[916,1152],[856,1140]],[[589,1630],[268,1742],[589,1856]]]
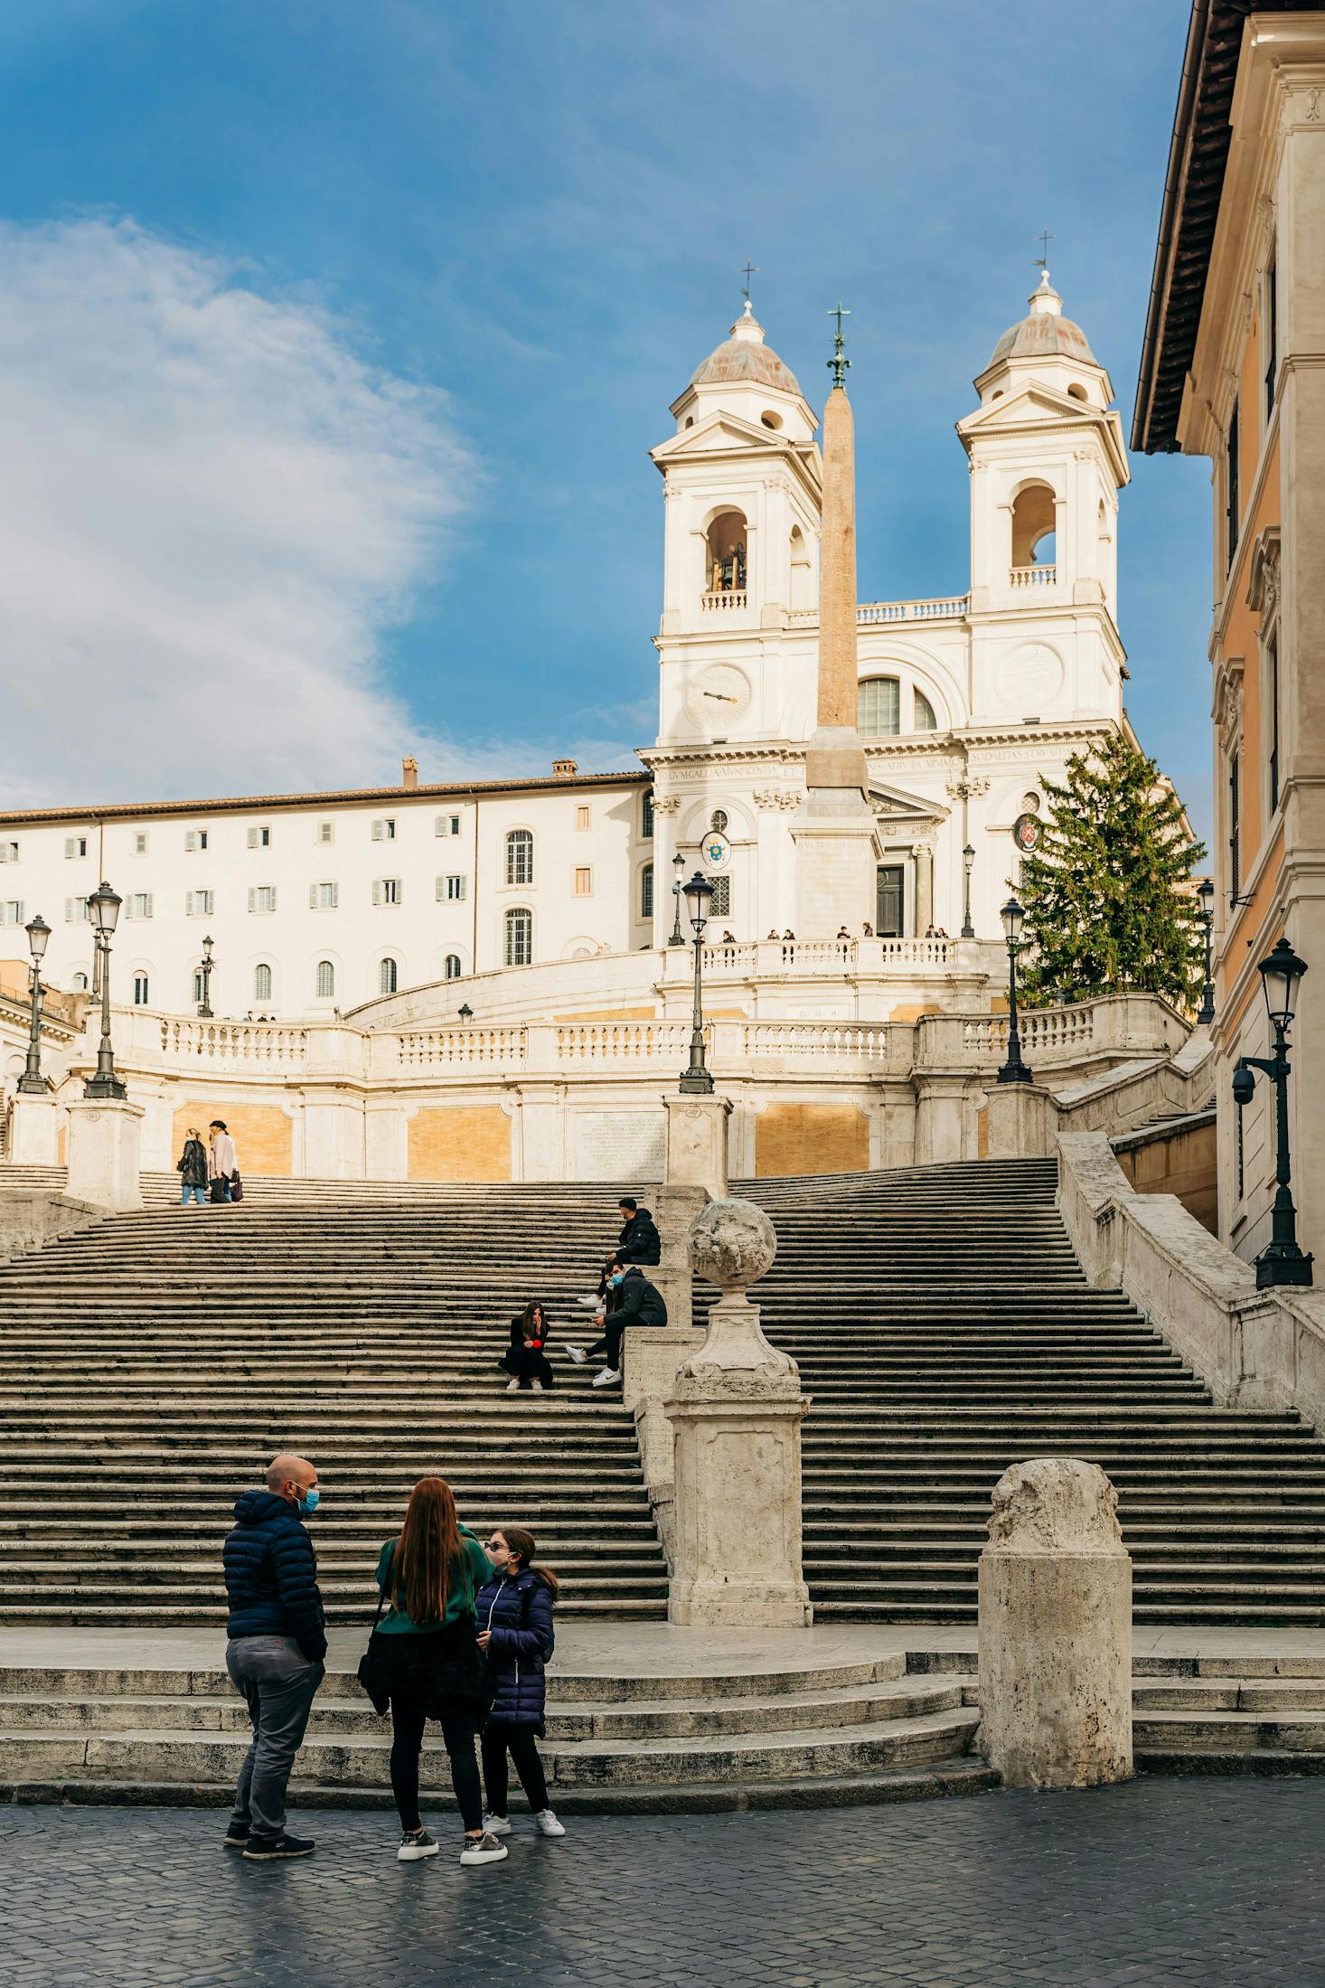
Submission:
[[[0,1169],[18,1177],[36,1173]],[[620,1398],[566,1360],[554,1392],[509,1396],[497,1368],[528,1296],[586,1336],[574,1296],[612,1191],[268,1179],[179,1209],[157,1175],[145,1193],[141,1215],[0,1266],[0,1618],[219,1620],[232,1497],[280,1447],[326,1483],[334,1622],[362,1618],[425,1469],[475,1525],[532,1527],[568,1616],[665,1616]],[[812,1396],[816,1620],[973,1620],[989,1491],[1049,1453],[1118,1487],[1138,1622],[1325,1624],[1325,1449],[1291,1411],[1216,1408],[1124,1296],[1085,1284],[1051,1161],[733,1193],[775,1221],[755,1296]]]

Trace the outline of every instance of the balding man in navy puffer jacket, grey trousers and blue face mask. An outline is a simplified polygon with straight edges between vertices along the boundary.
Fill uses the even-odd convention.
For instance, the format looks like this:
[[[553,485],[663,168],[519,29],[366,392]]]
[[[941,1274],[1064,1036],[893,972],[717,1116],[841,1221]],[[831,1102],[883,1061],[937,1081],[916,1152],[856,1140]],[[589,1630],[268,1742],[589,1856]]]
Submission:
[[[224,1845],[252,1863],[314,1849],[310,1837],[286,1833],[286,1785],[326,1676],[318,1559],[304,1525],[316,1509],[318,1471],[308,1457],[276,1457],[266,1489],[236,1499],[222,1553],[226,1670],[252,1720]]]

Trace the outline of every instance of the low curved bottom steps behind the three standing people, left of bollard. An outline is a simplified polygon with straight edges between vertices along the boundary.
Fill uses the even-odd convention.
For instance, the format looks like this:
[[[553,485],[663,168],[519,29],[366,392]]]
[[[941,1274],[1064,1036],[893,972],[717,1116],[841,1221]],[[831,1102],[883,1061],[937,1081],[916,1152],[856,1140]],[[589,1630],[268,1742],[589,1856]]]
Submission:
[[[961,1676],[912,1676],[900,1650],[775,1672],[634,1680],[554,1666],[540,1753],[562,1813],[979,1793],[997,1775],[967,1757],[979,1714],[965,1696]],[[246,1708],[221,1666],[0,1666],[0,1801],[221,1807],[246,1745]],[[389,1807],[389,1722],[375,1718],[354,1676],[328,1668],[292,1799]],[[451,1807],[435,1732],[423,1785],[427,1807]]]

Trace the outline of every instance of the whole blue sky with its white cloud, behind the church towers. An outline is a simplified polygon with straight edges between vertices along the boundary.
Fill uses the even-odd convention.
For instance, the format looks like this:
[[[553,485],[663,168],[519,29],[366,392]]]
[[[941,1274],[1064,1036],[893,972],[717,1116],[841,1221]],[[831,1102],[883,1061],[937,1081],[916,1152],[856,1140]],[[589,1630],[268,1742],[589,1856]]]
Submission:
[[[961,588],[954,421],[1041,227],[1130,423],[1186,16],[10,0],[8,791],[624,763],[648,449],[747,256],[816,404],[852,308],[862,596]],[[1208,465],[1132,471],[1128,710],[1204,829]]]

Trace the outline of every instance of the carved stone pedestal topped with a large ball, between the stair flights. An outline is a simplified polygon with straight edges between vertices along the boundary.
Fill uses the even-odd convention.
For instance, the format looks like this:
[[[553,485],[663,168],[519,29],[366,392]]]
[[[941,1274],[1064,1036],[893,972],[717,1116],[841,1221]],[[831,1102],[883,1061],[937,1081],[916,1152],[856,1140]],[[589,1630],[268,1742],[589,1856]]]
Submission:
[[[795,1360],[769,1346],[745,1286],[777,1237],[749,1201],[717,1201],[691,1223],[695,1276],[721,1288],[701,1346],[679,1366],[663,1411],[675,1439],[667,1618],[727,1628],[803,1628],[801,1419]]]

